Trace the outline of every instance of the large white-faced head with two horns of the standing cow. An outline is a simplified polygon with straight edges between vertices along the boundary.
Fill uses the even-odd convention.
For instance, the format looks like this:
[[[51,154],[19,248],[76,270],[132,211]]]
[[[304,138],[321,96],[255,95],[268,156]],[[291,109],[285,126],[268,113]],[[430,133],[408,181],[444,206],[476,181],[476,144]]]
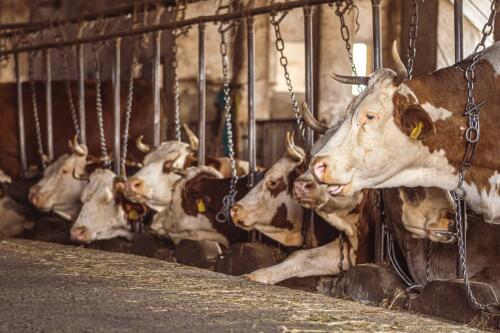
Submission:
[[[443,152],[431,153],[422,143],[435,132],[432,114],[402,83],[406,70],[396,45],[393,55],[397,73],[379,69],[370,78],[355,80],[367,88],[352,100],[339,130],[311,161],[313,175],[329,185],[331,195],[363,188],[436,186],[437,181],[443,182],[442,188],[456,185]],[[353,83],[352,78],[334,78]]]

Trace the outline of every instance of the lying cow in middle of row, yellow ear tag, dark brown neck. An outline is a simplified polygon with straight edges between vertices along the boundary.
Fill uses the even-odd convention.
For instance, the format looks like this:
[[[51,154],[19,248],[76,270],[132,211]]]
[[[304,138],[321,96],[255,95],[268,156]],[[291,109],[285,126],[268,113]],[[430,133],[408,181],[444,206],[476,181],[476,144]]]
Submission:
[[[247,233],[230,220],[219,222],[223,198],[229,193],[230,178],[211,166],[177,170],[179,178],[172,185],[171,201],[156,214],[151,229],[168,236],[174,244],[181,240],[211,241],[224,247],[247,240]],[[236,184],[236,200],[248,193],[247,177]]]

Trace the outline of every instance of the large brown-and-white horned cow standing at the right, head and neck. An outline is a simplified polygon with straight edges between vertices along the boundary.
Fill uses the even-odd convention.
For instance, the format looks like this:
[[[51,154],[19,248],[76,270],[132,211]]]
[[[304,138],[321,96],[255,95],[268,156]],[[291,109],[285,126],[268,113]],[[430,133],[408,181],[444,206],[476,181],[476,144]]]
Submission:
[[[338,81],[367,87],[310,163],[331,195],[349,196],[363,188],[457,187],[467,131],[464,69],[472,59],[406,80],[396,44],[393,56],[396,72],[378,69],[369,78],[333,74]],[[475,67],[474,98],[485,104],[480,143],[463,184],[467,204],[490,223],[500,223],[498,73],[500,43],[495,43]]]

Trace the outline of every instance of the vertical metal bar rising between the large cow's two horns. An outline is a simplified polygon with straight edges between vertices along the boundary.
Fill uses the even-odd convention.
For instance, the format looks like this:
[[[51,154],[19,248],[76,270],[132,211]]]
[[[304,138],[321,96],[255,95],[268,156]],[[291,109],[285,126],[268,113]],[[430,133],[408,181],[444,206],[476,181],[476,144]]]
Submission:
[[[372,1],[372,29],[373,29],[373,70],[382,67],[382,27],[380,23],[380,2],[381,0]],[[379,200],[383,201],[383,192],[379,190]],[[383,205],[380,205],[383,207]],[[383,214],[383,212],[381,212]],[[381,263],[384,261],[384,228],[383,222],[375,225],[375,262]]]

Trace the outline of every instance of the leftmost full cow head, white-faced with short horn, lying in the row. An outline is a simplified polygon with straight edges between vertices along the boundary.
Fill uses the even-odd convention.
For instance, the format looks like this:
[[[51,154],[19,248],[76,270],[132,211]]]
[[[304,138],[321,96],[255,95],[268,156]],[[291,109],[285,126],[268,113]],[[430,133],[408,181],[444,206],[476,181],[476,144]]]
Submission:
[[[69,147],[71,155],[62,155],[45,169],[43,178],[30,189],[29,199],[42,211],[54,211],[72,220],[78,214],[80,195],[88,183],[83,176],[88,150],[76,137],[69,142]]]

